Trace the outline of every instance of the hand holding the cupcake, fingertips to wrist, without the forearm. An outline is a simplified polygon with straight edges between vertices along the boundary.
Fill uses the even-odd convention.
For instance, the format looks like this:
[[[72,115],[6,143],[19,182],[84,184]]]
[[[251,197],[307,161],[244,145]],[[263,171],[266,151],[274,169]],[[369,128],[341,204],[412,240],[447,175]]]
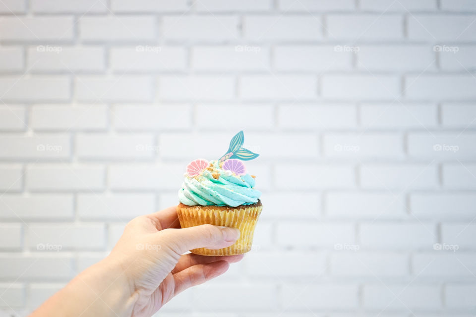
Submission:
[[[184,252],[231,246],[239,230],[210,224],[180,227],[175,207],[130,221],[108,257],[124,270],[135,298],[131,316],[151,316],[181,291],[227,271],[243,255],[210,257]]]

